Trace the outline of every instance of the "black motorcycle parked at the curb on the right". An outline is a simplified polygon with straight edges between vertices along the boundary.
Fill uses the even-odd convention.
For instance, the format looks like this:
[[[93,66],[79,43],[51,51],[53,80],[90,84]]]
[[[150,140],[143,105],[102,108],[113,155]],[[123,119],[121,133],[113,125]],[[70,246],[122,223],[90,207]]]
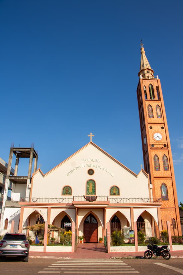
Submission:
[[[170,249],[168,248],[168,245],[162,245],[161,247],[158,247],[157,245],[151,245],[148,244],[148,250],[144,252],[144,258],[151,259],[152,255],[155,256],[162,256],[165,260],[169,260],[171,258],[170,255]]]

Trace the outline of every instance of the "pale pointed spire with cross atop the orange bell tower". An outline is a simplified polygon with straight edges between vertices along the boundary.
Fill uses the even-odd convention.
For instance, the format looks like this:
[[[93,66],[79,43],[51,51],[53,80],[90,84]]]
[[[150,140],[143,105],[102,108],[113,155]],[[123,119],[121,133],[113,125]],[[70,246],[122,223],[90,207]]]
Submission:
[[[140,40],[140,50],[141,50],[141,60],[140,60],[140,71],[138,76],[142,75],[143,78],[154,78],[154,70],[152,70],[149,61],[145,55],[144,44],[142,44],[142,39]]]

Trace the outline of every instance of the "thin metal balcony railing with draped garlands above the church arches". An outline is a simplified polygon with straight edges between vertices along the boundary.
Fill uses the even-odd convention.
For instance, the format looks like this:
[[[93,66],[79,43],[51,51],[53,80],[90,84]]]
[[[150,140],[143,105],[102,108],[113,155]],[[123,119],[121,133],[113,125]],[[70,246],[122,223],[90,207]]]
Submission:
[[[160,203],[160,198],[109,198],[108,196],[73,196],[63,198],[21,198],[20,202],[27,203],[64,203],[72,204],[74,202],[102,202],[107,201],[109,203]]]

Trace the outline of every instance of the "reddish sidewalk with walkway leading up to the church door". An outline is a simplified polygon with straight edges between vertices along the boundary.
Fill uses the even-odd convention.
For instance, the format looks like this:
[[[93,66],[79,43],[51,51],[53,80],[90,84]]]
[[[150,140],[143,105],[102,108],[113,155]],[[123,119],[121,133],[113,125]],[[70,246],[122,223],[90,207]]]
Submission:
[[[172,258],[183,258],[183,251],[170,251]],[[110,259],[143,257],[144,252],[106,252],[102,243],[78,243],[74,253],[68,252],[29,252],[30,258],[71,258],[71,259]]]

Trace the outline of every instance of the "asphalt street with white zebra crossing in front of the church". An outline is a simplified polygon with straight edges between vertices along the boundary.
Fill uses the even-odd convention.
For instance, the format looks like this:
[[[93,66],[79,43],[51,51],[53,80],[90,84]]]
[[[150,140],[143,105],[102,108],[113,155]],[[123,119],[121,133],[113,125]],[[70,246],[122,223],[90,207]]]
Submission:
[[[183,274],[182,258],[164,259],[67,259],[29,258],[5,259],[0,262],[3,275],[32,274],[140,274],[175,275]]]

